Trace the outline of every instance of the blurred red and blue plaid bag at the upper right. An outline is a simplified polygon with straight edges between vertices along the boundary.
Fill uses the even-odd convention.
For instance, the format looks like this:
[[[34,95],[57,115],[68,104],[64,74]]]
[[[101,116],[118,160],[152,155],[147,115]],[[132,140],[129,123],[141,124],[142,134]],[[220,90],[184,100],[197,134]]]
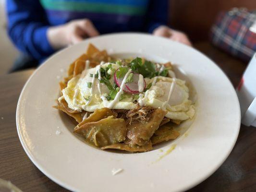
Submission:
[[[249,61],[256,52],[256,12],[244,8],[220,12],[211,28],[210,40],[233,56]]]

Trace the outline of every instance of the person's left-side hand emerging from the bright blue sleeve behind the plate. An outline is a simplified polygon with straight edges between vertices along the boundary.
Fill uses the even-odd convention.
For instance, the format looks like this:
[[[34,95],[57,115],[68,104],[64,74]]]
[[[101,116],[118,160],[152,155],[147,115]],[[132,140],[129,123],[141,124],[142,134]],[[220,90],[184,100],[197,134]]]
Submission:
[[[73,20],[67,24],[49,27],[47,37],[54,49],[64,48],[79,43],[86,37],[98,36],[99,33],[89,19]]]

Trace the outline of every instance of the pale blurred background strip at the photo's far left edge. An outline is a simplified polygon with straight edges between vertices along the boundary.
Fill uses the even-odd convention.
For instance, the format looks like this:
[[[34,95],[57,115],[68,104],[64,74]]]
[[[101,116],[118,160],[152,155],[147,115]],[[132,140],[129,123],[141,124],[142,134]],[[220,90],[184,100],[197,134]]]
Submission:
[[[5,0],[0,0],[0,75],[8,72],[18,51],[6,34]]]

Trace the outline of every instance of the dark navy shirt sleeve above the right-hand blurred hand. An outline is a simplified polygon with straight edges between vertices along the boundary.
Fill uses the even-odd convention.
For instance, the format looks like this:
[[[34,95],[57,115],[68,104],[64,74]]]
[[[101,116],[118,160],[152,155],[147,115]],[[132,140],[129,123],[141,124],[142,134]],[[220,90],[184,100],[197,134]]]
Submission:
[[[167,25],[169,0],[150,0],[147,9],[147,26],[148,33],[161,25]]]

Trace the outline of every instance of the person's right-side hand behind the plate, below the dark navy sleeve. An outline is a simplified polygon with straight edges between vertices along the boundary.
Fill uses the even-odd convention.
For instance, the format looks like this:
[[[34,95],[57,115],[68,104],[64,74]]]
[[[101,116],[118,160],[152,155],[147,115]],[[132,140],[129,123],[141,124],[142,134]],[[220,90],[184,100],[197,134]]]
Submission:
[[[173,30],[167,26],[159,26],[153,31],[154,36],[163,36],[167,37],[173,41],[178,41],[180,43],[186,44],[188,46],[192,46],[189,38],[183,32]]]

